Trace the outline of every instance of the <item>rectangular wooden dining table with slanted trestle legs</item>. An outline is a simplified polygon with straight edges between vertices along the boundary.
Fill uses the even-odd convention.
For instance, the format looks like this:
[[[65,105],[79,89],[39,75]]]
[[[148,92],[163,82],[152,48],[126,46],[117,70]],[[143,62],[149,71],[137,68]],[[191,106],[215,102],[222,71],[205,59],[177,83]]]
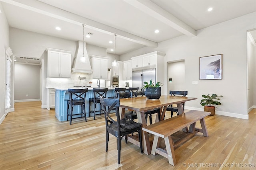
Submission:
[[[142,124],[142,127],[146,127],[146,119],[144,112],[154,109],[156,107],[160,108],[160,121],[164,119],[167,106],[171,104],[177,104],[178,113],[184,113],[182,104],[190,100],[196,100],[194,97],[181,97],[181,96],[164,96],[162,95],[158,100],[150,100],[146,97],[137,98],[122,98],[120,99],[120,118],[124,118],[125,109],[134,110],[137,113],[138,123]],[[158,113],[157,113],[158,114]],[[158,122],[158,115],[156,116],[156,121]],[[129,136],[128,141],[140,146],[138,138],[135,136]],[[151,153],[150,139],[147,132],[142,132],[142,145],[145,154]]]

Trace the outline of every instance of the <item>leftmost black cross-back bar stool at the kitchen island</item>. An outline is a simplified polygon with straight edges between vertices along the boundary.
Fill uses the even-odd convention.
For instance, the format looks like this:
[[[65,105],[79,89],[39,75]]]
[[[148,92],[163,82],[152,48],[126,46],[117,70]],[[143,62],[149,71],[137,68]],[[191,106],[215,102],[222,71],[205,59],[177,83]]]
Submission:
[[[72,119],[75,118],[79,118],[79,117],[73,117],[74,115],[81,115],[81,118],[83,117],[84,114],[84,119],[86,120],[86,114],[85,114],[85,96],[86,96],[86,92],[88,92],[88,88],[84,88],[84,89],[68,89],[69,92],[69,100],[67,100],[68,102],[68,106],[67,106],[67,120],[68,117],[70,117],[70,125],[72,122]],[[73,110],[74,110],[74,106],[80,106],[80,113],[75,113],[73,114]],[[70,110],[69,110],[70,107]]]

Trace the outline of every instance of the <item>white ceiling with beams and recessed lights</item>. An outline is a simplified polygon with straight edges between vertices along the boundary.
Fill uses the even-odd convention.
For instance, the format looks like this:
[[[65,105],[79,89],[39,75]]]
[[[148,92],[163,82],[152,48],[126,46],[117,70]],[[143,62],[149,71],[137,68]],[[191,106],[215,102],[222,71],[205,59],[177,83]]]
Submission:
[[[108,53],[114,53],[108,41],[117,34],[118,55],[184,34],[196,36],[198,29],[256,11],[256,0],[1,0],[1,5],[10,27],[18,29],[82,41],[85,24],[85,34],[93,33],[86,43]]]

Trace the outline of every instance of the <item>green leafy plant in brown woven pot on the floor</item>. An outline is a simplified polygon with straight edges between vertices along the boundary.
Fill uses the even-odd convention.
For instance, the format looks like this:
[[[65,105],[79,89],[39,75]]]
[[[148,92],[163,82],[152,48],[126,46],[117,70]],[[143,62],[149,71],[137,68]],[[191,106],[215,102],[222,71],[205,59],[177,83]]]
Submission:
[[[204,106],[204,111],[211,112],[210,115],[215,115],[215,106],[212,106],[212,105],[221,105],[220,102],[215,100],[220,100],[220,98],[217,98],[217,97],[223,97],[223,96],[218,96],[217,94],[212,94],[212,96],[209,96],[209,95],[210,94],[208,95],[203,94],[202,97],[204,99],[200,101],[200,104]]]

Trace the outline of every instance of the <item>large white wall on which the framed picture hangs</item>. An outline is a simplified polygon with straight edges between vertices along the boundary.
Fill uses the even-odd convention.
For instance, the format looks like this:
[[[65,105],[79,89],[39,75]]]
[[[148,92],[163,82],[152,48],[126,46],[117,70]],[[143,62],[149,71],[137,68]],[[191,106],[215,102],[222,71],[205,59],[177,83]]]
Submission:
[[[158,48],[145,47],[120,56],[121,61],[130,57],[161,51],[166,53],[167,62],[185,60],[185,88],[188,96],[197,97],[186,103],[190,109],[203,109],[200,105],[202,94],[223,95],[216,114],[248,119],[246,86],[246,33],[256,28],[256,12],[222,22],[197,31],[196,37],[182,35],[158,43]],[[199,57],[223,54],[223,79],[199,80]],[[198,81],[198,84],[192,84]],[[167,76],[165,84],[167,83]],[[167,93],[167,88],[164,91]]]

